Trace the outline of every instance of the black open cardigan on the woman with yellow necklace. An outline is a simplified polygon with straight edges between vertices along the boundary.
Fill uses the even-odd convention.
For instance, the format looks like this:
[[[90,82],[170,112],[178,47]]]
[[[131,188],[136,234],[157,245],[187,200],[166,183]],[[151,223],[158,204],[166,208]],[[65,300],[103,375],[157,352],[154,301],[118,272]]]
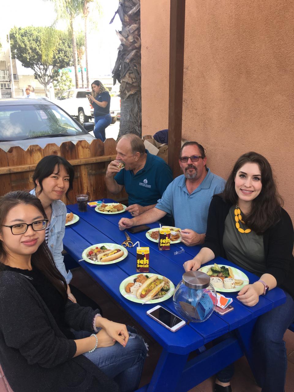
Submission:
[[[207,230],[203,247],[214,252],[215,257],[227,259],[223,248],[225,219],[232,204],[223,201],[220,195],[214,195],[209,206]],[[280,220],[263,233],[265,250],[265,273],[276,278],[277,286],[285,289],[294,298],[292,271],[294,258],[292,255],[294,231],[290,216],[281,208]],[[231,260],[234,263],[234,260]],[[251,271],[250,271],[251,272]]]

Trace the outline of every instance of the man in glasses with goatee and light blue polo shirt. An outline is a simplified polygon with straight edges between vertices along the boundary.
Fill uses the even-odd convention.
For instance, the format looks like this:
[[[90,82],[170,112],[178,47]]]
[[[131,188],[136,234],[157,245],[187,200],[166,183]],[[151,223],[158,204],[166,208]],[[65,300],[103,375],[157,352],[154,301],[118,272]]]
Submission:
[[[185,245],[203,243],[211,198],[225,187],[225,180],[213,174],[206,167],[206,161],[201,144],[186,142],[179,158],[183,174],[168,185],[154,208],[132,219],[122,218],[118,222],[120,230],[152,223],[172,214],[175,226],[182,229],[181,240]]]

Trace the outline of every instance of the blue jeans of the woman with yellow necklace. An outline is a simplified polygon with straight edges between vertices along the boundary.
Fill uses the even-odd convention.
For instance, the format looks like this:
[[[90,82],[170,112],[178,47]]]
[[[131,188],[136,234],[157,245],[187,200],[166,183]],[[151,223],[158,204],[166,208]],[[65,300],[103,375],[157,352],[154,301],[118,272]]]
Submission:
[[[283,392],[287,371],[287,354],[283,336],[294,321],[294,301],[285,292],[283,305],[262,314],[256,321],[252,335],[252,351],[256,381],[262,392]],[[217,379],[223,383],[233,376],[233,365],[218,372]]]

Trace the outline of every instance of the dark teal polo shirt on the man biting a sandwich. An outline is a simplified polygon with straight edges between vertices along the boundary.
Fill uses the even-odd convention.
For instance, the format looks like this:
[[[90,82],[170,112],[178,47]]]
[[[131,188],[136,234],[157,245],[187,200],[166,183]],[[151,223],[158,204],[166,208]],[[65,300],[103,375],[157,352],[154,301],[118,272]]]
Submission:
[[[143,169],[136,174],[132,170],[122,169],[114,180],[125,186],[129,195],[129,205],[142,206],[156,204],[172,181],[172,171],[162,158],[145,150],[147,159]]]

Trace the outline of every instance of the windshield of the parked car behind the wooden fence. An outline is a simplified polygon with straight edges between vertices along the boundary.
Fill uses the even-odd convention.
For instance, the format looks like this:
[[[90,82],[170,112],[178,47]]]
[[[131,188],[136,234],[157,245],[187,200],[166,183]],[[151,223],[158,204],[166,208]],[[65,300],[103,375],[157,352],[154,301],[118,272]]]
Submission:
[[[87,134],[64,111],[52,105],[0,105],[0,140],[23,140]]]

